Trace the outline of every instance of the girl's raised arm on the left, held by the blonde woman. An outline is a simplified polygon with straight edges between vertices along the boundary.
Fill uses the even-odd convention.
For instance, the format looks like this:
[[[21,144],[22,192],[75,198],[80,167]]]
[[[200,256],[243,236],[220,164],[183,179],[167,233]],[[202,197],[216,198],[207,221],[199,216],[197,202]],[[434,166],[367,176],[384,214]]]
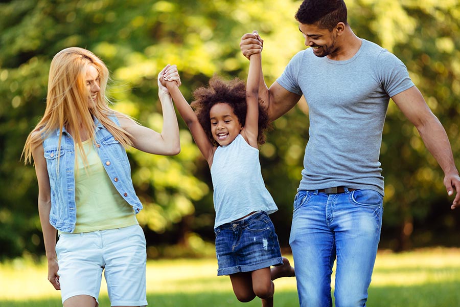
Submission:
[[[173,81],[172,78],[165,76],[168,80],[163,80],[162,83],[168,87],[168,91],[173,98],[174,104],[177,107],[177,111],[179,111],[180,116],[186,122],[189,130],[192,134],[193,139],[195,140],[198,149],[200,149],[204,159],[208,161],[208,164],[212,165],[214,151],[217,148],[216,146],[211,143],[208,138],[208,135],[204,132],[203,127],[201,126],[198,117],[196,116],[195,112],[193,112],[192,107],[187,102],[187,100],[183,97],[182,93],[177,86],[177,83]]]

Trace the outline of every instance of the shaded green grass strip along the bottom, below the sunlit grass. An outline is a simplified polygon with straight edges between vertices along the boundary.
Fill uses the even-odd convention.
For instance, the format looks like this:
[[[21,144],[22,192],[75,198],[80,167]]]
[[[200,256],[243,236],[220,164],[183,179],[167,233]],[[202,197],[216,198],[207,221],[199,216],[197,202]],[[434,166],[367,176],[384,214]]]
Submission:
[[[150,306],[160,307],[232,307],[260,306],[258,298],[248,303],[239,302],[232,292],[148,294]],[[100,307],[109,307],[107,296],[99,299]],[[298,306],[297,292],[282,290],[275,293],[277,307]],[[460,306],[460,291],[456,283],[425,283],[416,286],[383,286],[369,289],[368,306],[372,307],[453,307]],[[0,301],[0,307],[61,307],[59,298],[23,301]]]

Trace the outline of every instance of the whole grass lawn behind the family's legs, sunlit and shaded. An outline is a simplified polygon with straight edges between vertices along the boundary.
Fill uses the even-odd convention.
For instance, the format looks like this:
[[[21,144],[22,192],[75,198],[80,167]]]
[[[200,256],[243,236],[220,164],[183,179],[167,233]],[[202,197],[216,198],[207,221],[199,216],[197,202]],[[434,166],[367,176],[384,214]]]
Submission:
[[[460,306],[460,249],[426,249],[406,253],[379,252],[369,300],[373,307]],[[292,258],[291,258],[292,260]],[[240,303],[228,277],[216,276],[211,259],[150,260],[147,300],[151,306],[260,306]],[[46,279],[45,264],[18,259],[0,264],[0,307],[62,306],[60,292]],[[275,306],[298,305],[295,278],[275,280]],[[103,282],[100,306],[110,306]]]

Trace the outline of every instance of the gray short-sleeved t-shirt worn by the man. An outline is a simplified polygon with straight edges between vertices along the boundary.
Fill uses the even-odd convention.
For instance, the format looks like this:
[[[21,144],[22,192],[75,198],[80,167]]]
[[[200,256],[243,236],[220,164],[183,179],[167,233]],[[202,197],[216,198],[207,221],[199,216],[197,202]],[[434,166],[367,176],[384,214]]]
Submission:
[[[379,155],[388,101],[414,85],[401,60],[363,39],[344,61],[303,50],[277,81],[304,95],[309,107],[310,138],[298,190],[346,186],[383,195]]]

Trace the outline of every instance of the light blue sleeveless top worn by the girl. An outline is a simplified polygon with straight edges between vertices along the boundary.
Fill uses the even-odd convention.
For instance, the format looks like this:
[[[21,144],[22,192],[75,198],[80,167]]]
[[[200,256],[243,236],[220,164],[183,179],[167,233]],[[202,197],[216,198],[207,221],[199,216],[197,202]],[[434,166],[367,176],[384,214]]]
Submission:
[[[270,214],[278,210],[262,178],[259,149],[250,146],[242,135],[216,149],[211,177],[216,210],[214,228],[252,211]]]

